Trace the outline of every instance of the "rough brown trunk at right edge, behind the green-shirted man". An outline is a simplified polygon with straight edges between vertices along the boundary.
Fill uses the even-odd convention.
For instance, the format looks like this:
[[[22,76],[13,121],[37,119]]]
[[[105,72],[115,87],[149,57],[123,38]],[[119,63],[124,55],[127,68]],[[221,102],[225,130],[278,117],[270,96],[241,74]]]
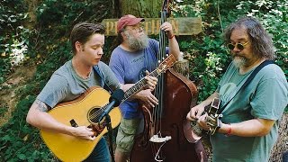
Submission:
[[[272,149],[269,162],[281,162],[283,161],[283,154],[288,150],[288,113],[285,112],[279,122],[278,139]]]

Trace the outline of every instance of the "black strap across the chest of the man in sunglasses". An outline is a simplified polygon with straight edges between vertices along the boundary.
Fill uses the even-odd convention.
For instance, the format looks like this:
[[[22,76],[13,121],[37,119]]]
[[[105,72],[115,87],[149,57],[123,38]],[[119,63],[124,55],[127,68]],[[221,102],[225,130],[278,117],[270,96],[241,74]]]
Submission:
[[[235,97],[236,94],[240,91],[240,89],[244,89],[250,82],[251,80],[257,75],[257,73],[263,68],[266,67],[266,65],[269,64],[274,64],[275,62],[273,60],[265,60],[263,61],[258,67],[255,68],[255,70],[251,73],[251,75],[247,78],[245,83],[241,86],[238,86],[238,89],[234,91],[233,94],[230,95],[229,100],[227,103],[225,103],[219,110],[219,114],[224,111],[225,107],[229,104],[229,102]]]

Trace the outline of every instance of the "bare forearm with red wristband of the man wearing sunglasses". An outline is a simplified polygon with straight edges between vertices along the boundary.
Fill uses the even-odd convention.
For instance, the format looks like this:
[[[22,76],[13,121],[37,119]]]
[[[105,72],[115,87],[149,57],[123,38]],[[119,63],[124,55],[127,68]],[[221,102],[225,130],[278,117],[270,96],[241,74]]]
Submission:
[[[238,123],[222,123],[220,133],[240,136],[240,137],[259,137],[265,136],[273,127],[275,121],[264,119],[253,119]]]

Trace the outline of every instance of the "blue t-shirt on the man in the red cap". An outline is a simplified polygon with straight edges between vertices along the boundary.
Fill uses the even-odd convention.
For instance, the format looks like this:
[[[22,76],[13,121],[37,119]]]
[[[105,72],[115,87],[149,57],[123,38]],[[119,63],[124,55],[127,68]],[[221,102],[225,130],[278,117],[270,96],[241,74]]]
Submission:
[[[145,76],[145,70],[153,71],[157,67],[159,43],[149,39],[148,47],[136,52],[121,49],[112,51],[109,66],[121,84],[134,84]],[[166,49],[167,50],[167,49]],[[128,100],[120,104],[122,117],[125,119],[141,118],[137,100]]]

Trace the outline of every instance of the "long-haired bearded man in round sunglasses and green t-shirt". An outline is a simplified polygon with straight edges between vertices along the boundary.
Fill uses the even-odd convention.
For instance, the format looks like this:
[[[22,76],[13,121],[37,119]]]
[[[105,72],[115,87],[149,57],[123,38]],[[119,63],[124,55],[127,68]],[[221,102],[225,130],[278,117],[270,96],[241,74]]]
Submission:
[[[268,161],[288,103],[287,80],[280,67],[269,64],[239,88],[262,62],[275,59],[274,45],[261,23],[252,17],[231,23],[224,37],[233,61],[216,92],[194,106],[187,119],[197,120],[202,129],[209,130],[207,113],[202,112],[213,98],[220,98],[223,117],[219,129],[211,135],[213,161]]]

